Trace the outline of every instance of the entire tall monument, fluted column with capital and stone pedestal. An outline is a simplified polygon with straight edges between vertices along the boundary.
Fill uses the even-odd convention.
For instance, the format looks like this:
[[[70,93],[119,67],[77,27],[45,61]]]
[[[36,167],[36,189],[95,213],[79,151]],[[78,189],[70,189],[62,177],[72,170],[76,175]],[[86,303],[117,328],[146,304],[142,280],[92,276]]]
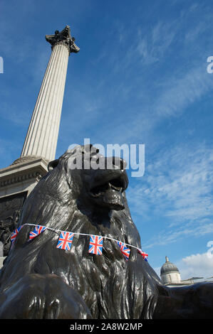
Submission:
[[[46,41],[51,43],[52,53],[21,156],[11,166],[0,170],[0,240],[4,243],[4,256],[24,200],[47,173],[48,162],[55,158],[68,58],[79,51],[69,26],[47,35]]]

